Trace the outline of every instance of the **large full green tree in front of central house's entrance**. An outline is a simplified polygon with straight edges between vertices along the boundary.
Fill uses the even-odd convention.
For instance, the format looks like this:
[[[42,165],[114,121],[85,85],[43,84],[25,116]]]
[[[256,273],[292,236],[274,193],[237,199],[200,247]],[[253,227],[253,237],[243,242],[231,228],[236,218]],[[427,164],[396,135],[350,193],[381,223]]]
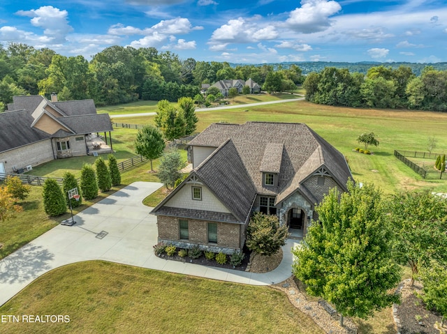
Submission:
[[[400,282],[400,267],[391,250],[393,233],[381,192],[373,185],[348,192],[332,188],[316,207],[318,222],[304,243],[293,250],[293,273],[344,316],[367,318],[397,302],[392,292]]]

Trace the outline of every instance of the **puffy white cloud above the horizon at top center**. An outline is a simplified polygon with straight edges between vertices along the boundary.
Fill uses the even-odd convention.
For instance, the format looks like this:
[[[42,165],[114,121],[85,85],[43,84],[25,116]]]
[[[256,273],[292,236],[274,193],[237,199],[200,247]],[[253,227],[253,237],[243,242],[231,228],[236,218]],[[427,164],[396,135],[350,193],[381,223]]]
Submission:
[[[274,26],[258,24],[258,20],[258,16],[251,19],[239,17],[229,20],[227,24],[213,31],[210,44],[254,43],[277,38],[278,33]]]

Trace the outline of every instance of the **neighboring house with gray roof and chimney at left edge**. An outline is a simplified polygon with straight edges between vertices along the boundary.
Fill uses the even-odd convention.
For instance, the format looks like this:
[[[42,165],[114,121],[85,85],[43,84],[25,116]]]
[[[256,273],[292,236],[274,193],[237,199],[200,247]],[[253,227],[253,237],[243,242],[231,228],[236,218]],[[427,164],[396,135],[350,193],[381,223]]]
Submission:
[[[113,130],[108,114],[96,114],[93,100],[58,102],[55,94],[52,102],[43,96],[15,96],[0,112],[0,129],[0,173],[87,155],[99,145],[89,142],[91,134],[104,132],[107,144],[107,132],[111,138]]]

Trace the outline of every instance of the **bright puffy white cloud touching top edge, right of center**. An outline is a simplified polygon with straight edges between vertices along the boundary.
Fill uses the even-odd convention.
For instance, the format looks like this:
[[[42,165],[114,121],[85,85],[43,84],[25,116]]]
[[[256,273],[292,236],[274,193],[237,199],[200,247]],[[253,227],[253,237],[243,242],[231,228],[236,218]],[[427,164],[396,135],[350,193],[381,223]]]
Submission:
[[[342,9],[336,1],[302,0],[301,7],[292,10],[286,26],[300,33],[314,33],[328,29],[329,17]]]

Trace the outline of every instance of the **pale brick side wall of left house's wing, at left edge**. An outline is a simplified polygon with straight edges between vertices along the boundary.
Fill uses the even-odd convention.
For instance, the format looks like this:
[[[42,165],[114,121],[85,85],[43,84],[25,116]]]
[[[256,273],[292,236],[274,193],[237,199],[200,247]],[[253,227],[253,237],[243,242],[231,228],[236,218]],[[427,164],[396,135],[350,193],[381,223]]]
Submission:
[[[6,173],[12,173],[13,167],[17,169],[28,165],[36,166],[43,162],[54,160],[56,151],[52,149],[51,139],[18,147],[10,151],[0,153],[0,161],[3,162]]]

